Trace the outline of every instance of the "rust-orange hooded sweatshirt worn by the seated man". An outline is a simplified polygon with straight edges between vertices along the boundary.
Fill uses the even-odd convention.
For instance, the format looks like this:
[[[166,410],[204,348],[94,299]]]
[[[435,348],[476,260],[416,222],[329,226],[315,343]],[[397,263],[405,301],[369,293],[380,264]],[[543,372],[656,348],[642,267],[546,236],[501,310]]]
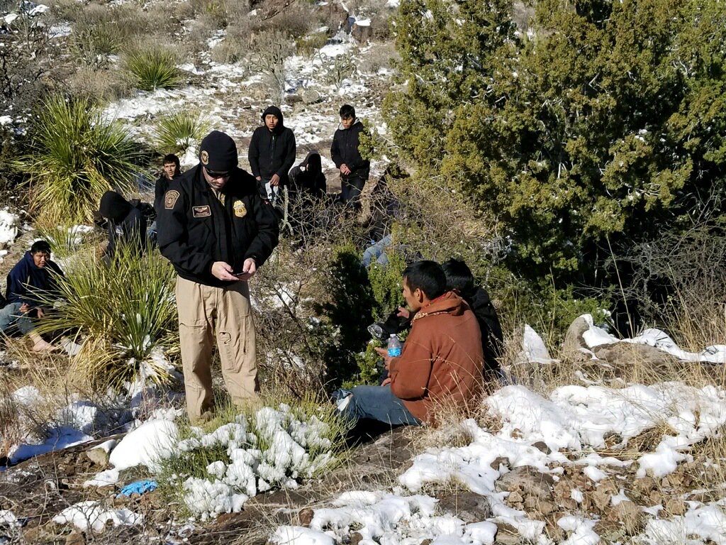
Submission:
[[[391,392],[431,423],[437,406],[478,401],[483,362],[476,316],[449,291],[415,315],[403,352],[388,365]]]

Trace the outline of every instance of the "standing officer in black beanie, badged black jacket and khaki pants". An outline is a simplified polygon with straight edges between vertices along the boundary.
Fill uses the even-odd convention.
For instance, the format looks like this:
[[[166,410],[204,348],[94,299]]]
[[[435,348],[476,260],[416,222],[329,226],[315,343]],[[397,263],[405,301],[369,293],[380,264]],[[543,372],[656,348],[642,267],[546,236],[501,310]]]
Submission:
[[[279,235],[277,217],[259,195],[256,180],[237,168],[232,138],[211,132],[202,140],[199,160],[171,182],[158,219],[159,249],[179,275],[179,344],[192,421],[204,419],[212,409],[215,334],[232,401],[256,397],[247,280],[272,254]]]

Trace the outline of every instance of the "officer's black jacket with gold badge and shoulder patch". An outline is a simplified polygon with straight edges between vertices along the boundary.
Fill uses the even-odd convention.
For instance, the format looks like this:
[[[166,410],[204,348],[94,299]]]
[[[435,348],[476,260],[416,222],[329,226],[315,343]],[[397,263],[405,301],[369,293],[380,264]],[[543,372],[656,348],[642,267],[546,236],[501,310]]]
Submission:
[[[259,267],[277,246],[277,216],[260,198],[249,172],[235,168],[221,195],[224,204],[203,178],[200,165],[169,184],[157,218],[158,243],[181,278],[228,286],[232,282],[212,275],[214,262],[227,262],[234,272],[242,272],[245,259],[252,257]]]

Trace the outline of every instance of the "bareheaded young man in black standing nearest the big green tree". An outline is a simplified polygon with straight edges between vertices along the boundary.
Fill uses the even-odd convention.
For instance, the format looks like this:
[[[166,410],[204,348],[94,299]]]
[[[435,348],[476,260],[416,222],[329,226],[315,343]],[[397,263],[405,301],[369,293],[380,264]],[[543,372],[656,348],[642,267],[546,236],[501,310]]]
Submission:
[[[360,195],[370,174],[370,161],[361,157],[358,150],[360,134],[365,129],[356,118],[356,110],[351,105],[340,107],[340,126],[333,136],[330,156],[340,169],[341,197],[344,203],[359,206]]]

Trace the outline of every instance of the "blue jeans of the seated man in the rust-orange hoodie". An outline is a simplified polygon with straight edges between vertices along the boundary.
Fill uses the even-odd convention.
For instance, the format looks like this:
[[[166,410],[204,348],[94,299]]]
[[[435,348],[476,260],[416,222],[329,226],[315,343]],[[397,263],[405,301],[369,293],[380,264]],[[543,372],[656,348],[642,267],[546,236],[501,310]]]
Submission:
[[[404,402],[393,395],[389,384],[356,386],[347,397],[346,394],[346,390],[338,390],[334,397],[338,399],[340,413],[348,420],[372,419],[391,426],[421,425],[421,421],[409,412]]]

